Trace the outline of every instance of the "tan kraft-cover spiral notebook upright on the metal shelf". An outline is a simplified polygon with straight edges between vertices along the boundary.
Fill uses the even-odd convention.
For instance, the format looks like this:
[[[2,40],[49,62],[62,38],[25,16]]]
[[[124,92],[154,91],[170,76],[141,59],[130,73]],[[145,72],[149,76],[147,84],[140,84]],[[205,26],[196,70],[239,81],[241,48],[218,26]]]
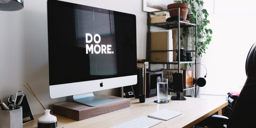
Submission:
[[[151,32],[151,51],[173,50],[172,30]],[[173,52],[151,52],[152,62],[173,62]]]

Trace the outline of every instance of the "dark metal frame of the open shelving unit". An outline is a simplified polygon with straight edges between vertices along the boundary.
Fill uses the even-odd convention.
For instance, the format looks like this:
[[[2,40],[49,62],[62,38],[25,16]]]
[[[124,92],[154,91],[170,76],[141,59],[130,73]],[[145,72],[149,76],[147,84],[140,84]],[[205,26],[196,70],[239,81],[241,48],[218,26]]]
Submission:
[[[154,26],[154,27],[159,27],[159,28],[165,28],[165,29],[172,29],[172,28],[178,28],[178,33],[177,35],[180,35],[180,28],[186,28],[186,27],[195,27],[195,31],[196,31],[196,24],[192,24],[192,23],[188,23],[188,22],[184,22],[184,21],[172,21],[172,22],[162,22],[162,23],[150,23],[150,14],[155,13],[155,12],[169,12],[171,10],[178,10],[178,19],[180,19],[180,8],[172,8],[172,9],[166,9],[166,10],[160,10],[160,11],[154,11],[154,12],[148,12],[148,21],[147,21],[147,25],[148,25],[148,30],[147,30],[147,50],[148,50],[148,62],[149,62],[149,70],[150,70],[150,64],[166,64],[167,69],[170,68],[170,64],[175,64],[178,65],[178,72],[180,73],[180,64],[185,64],[185,63],[195,63],[195,79],[197,79],[197,60],[195,58],[195,61],[180,61],[180,36],[178,36],[178,50],[154,50],[151,51],[151,40],[150,40],[150,27]],[[195,35],[197,37],[197,35]],[[195,41],[197,42],[197,38],[195,39]],[[195,45],[195,50],[192,51],[187,51],[187,52],[196,52],[197,50],[197,45]],[[151,57],[150,57],[150,53],[151,52],[169,52],[169,51],[176,51],[178,54],[178,60],[177,62],[151,62]],[[190,88],[185,88],[183,89],[183,91],[185,90],[189,90],[189,89],[194,89],[195,88],[195,92],[196,92],[196,84],[195,87],[190,87]],[[171,91],[172,92],[172,91]],[[195,95],[196,97],[196,95]]]

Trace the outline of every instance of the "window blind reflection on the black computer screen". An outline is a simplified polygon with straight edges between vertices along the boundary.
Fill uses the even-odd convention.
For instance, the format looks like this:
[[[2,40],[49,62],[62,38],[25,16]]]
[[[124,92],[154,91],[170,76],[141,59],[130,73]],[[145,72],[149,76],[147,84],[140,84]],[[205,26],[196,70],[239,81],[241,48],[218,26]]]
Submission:
[[[79,7],[78,7],[79,8]],[[88,10],[88,11],[85,11]],[[116,75],[116,40],[113,11],[94,7],[83,7],[83,10],[75,9],[76,42],[77,47],[85,48],[86,44],[95,45],[94,41],[85,43],[85,33],[99,34],[99,45],[111,45],[113,54],[92,54],[89,52],[91,75]],[[90,40],[90,38],[88,39]],[[98,40],[98,38],[96,38]],[[96,48],[98,51],[99,48]]]

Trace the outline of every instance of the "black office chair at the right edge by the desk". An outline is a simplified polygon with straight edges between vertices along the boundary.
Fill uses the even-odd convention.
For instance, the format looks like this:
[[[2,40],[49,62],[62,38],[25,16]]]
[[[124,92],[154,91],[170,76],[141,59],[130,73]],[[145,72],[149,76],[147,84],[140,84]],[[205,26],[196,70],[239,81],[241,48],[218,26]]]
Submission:
[[[198,126],[211,128],[221,128],[224,124],[227,124],[227,128],[252,128],[256,126],[254,122],[256,119],[256,106],[254,106],[256,102],[256,43],[252,45],[247,55],[245,72],[247,79],[229,119],[225,116],[212,115],[198,123]],[[234,80],[236,79],[234,77]]]

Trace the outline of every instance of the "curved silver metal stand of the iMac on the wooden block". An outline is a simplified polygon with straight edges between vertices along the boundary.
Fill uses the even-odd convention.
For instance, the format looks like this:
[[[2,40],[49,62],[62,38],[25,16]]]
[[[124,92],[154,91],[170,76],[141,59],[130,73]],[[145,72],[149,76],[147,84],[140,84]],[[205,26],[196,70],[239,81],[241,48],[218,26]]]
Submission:
[[[97,97],[92,92],[73,95],[73,99],[78,103],[81,103],[87,106],[92,106],[92,107],[109,104],[117,101],[113,99]]]

